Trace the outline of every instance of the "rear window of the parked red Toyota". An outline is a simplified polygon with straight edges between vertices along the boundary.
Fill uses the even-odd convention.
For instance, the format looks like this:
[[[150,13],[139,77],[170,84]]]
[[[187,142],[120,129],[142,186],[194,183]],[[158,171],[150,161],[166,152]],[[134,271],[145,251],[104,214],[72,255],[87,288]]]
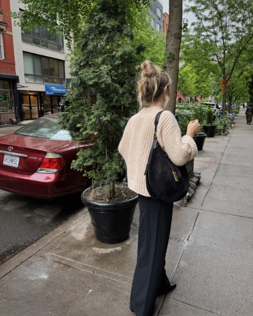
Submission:
[[[58,141],[72,141],[68,130],[63,129],[57,117],[41,117],[21,127],[15,134]]]

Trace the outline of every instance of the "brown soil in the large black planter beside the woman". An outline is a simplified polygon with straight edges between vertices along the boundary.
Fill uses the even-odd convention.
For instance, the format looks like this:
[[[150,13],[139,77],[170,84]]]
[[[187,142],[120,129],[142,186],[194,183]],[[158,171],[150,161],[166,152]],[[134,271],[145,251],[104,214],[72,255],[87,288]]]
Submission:
[[[115,198],[112,200],[108,199],[108,191],[105,187],[96,187],[87,194],[87,198],[91,201],[98,203],[114,203],[130,200],[136,197],[136,193],[130,190],[126,186],[115,185]]]

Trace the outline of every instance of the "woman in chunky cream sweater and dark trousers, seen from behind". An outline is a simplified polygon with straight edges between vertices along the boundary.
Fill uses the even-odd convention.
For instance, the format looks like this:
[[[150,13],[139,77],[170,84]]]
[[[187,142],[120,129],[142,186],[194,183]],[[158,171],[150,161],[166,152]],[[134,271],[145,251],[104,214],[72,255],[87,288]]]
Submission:
[[[141,110],[126,124],[119,152],[128,171],[128,186],[139,195],[140,222],[137,265],[130,298],[130,309],[137,316],[153,315],[156,297],[175,289],[165,272],[165,255],[170,237],[173,203],[153,200],[148,194],[145,167],[153,141],[154,120],[170,97],[171,79],[150,61],[141,65],[138,101]],[[191,121],[186,136],[174,115],[164,111],[159,119],[157,139],[176,165],[183,165],[197,154],[192,139],[199,131],[197,120]]]

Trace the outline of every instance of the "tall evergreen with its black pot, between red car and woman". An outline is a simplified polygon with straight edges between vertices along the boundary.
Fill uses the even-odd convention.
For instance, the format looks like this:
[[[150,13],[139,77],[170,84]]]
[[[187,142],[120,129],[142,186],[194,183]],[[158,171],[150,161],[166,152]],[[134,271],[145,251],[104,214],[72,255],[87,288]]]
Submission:
[[[138,196],[117,185],[125,165],[118,153],[127,119],[138,108],[136,78],[140,47],[132,46],[128,21],[132,0],[98,0],[75,44],[72,77],[62,124],[81,144],[72,168],[92,179],[81,194],[97,238],[118,243],[129,237]],[[122,222],[123,220],[123,222]]]

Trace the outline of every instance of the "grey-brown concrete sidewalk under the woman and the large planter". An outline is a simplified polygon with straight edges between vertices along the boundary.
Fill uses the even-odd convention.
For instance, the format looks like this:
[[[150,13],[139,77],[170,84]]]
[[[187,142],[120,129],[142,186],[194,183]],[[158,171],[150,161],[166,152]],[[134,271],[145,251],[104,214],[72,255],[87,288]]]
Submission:
[[[194,159],[200,184],[174,207],[166,271],[177,288],[159,316],[253,315],[253,124],[244,111],[228,136],[205,140]],[[133,316],[138,208],[131,236],[96,240],[86,208],[0,265],[1,316]]]

